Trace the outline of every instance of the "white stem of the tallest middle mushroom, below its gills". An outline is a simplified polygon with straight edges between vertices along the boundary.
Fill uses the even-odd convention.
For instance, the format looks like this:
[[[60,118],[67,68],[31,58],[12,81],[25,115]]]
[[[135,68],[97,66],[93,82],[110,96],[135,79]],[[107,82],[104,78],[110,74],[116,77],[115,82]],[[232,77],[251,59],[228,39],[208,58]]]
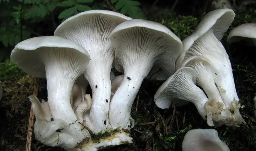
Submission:
[[[101,70],[87,68],[84,72],[85,78],[88,79],[92,88],[92,106],[89,113],[89,119],[86,120],[89,120],[88,122],[93,125],[93,127],[90,127],[89,129],[96,134],[105,132],[109,123],[108,113],[111,95],[111,65],[107,67],[110,68]],[[91,77],[91,75],[93,75],[93,77]]]

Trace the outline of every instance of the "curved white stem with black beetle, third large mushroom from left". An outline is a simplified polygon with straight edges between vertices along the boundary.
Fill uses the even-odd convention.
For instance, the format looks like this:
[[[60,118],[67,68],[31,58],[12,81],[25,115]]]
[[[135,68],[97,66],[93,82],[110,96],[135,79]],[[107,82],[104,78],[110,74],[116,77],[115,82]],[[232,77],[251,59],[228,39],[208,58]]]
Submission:
[[[130,129],[130,115],[133,101],[140,90],[143,79],[152,67],[152,65],[146,65],[147,63],[145,64],[145,67],[144,64],[131,65],[129,70],[125,71],[123,82],[116,90],[110,102],[109,120],[112,129],[118,127]]]

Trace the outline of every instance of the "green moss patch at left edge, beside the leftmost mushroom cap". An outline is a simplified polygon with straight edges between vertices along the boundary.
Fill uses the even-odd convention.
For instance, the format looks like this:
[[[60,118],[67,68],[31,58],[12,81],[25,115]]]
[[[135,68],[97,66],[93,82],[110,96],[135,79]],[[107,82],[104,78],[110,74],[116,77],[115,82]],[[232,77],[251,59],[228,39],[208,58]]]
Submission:
[[[26,75],[10,60],[0,63],[0,81],[9,81],[12,79],[20,79]]]

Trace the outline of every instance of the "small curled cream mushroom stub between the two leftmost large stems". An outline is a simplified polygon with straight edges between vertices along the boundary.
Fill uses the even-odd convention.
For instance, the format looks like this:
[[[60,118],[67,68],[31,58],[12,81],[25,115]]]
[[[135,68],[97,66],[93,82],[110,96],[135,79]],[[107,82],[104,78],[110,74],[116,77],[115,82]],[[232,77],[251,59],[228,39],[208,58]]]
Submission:
[[[92,98],[89,94],[84,96],[84,100],[76,108],[75,114],[79,119],[79,123],[83,124],[83,113],[92,106]]]

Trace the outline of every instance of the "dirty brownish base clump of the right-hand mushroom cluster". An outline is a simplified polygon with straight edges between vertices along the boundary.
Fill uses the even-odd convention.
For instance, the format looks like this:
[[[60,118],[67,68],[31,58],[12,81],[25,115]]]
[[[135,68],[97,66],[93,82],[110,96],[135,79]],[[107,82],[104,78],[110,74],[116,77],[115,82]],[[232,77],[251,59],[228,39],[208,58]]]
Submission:
[[[231,107],[223,109],[223,104],[217,101],[207,101],[204,109],[207,112],[207,124],[209,126],[229,125],[239,127],[245,121],[239,113],[240,104],[231,101]]]

